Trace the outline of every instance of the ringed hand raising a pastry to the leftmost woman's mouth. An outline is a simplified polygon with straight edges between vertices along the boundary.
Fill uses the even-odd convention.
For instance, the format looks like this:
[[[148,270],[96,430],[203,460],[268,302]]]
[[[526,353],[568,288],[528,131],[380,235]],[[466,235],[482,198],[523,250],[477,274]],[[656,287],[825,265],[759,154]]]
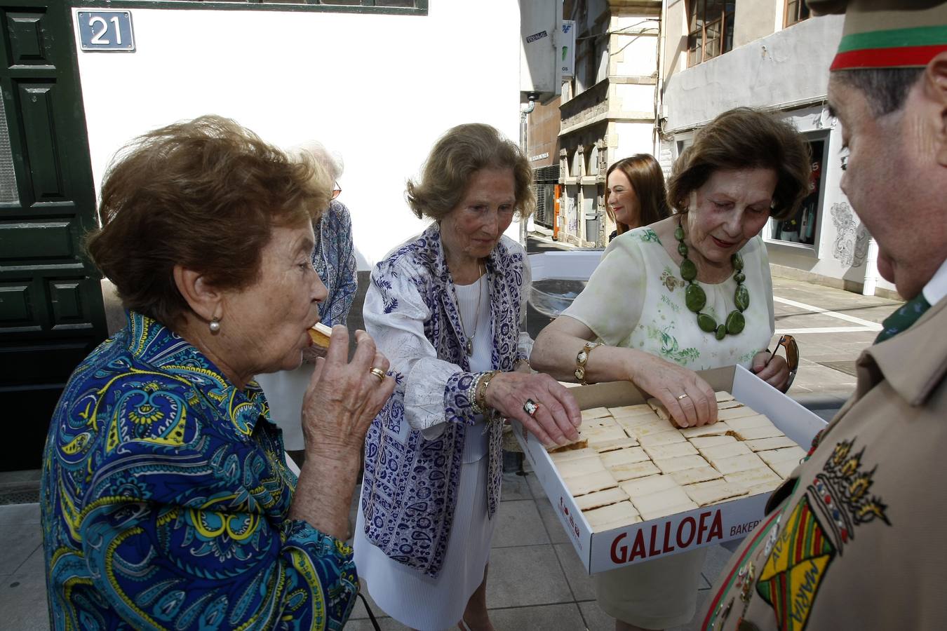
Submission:
[[[302,408],[307,452],[329,458],[360,452],[368,426],[395,390],[394,377],[377,374],[388,371],[388,359],[371,336],[360,330],[355,338],[348,361],[348,331],[341,324],[332,327],[326,357],[315,362]]]

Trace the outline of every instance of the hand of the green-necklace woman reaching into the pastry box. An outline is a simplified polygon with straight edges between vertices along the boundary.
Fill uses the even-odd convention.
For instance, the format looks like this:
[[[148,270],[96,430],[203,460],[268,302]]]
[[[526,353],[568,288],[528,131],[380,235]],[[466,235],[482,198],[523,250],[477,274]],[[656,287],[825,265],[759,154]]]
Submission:
[[[648,353],[641,353],[632,365],[634,385],[664,404],[678,427],[717,422],[717,397],[697,373]]]

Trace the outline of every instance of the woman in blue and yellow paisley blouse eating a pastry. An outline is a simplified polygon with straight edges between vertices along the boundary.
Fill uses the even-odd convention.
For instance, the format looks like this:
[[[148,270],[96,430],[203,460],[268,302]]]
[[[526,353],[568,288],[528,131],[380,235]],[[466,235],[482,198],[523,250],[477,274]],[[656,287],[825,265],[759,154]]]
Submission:
[[[394,389],[364,332],[332,331],[287,468],[253,377],[295,368],[326,289],[313,209],[331,181],[233,121],[152,131],[102,185],[88,242],[128,324],[69,378],[42,484],[54,629],[341,629],[341,538],[371,419]]]

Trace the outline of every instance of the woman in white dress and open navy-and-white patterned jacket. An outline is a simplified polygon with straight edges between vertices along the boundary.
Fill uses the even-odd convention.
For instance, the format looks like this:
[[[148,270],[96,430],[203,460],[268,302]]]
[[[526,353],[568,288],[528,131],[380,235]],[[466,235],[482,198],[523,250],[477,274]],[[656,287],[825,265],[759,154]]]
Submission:
[[[529,370],[527,257],[503,236],[532,208],[531,178],[490,126],[447,131],[408,184],[414,212],[434,221],[371,275],[366,329],[398,387],[366,437],[353,546],[372,598],[414,629],[492,628],[502,417],[547,443],[578,439],[575,399]]]

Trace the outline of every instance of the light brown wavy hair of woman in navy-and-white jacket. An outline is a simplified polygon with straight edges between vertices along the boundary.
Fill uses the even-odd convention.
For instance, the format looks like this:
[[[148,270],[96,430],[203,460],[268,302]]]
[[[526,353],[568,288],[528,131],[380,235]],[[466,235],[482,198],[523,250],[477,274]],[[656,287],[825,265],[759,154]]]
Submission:
[[[532,169],[514,143],[490,125],[457,125],[442,135],[427,156],[420,181],[408,180],[407,201],[418,218],[441,220],[467,193],[471,176],[481,168],[511,168],[516,184],[516,212],[528,217],[536,206]]]

